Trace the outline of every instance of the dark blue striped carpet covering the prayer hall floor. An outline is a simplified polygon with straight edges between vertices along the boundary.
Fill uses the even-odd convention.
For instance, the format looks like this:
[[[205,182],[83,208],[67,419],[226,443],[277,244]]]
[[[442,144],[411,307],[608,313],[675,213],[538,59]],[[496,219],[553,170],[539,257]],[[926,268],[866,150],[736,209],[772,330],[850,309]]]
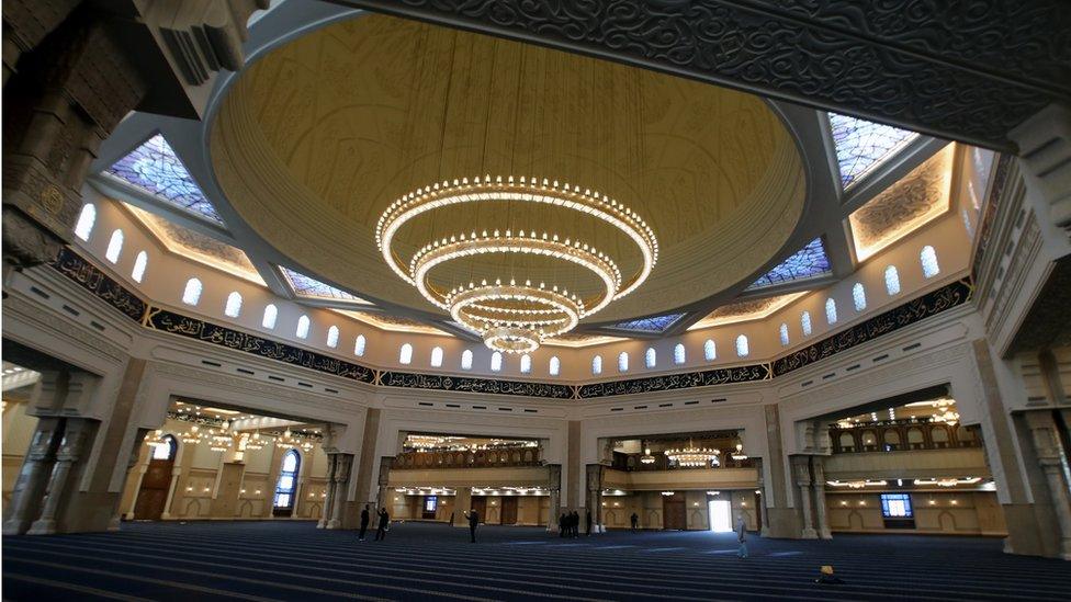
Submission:
[[[371,535],[371,534],[370,534]],[[135,523],[3,538],[4,600],[1069,600],[1071,564],[999,539],[611,532],[395,523],[385,542],[308,522]],[[845,583],[813,582],[834,565]]]

